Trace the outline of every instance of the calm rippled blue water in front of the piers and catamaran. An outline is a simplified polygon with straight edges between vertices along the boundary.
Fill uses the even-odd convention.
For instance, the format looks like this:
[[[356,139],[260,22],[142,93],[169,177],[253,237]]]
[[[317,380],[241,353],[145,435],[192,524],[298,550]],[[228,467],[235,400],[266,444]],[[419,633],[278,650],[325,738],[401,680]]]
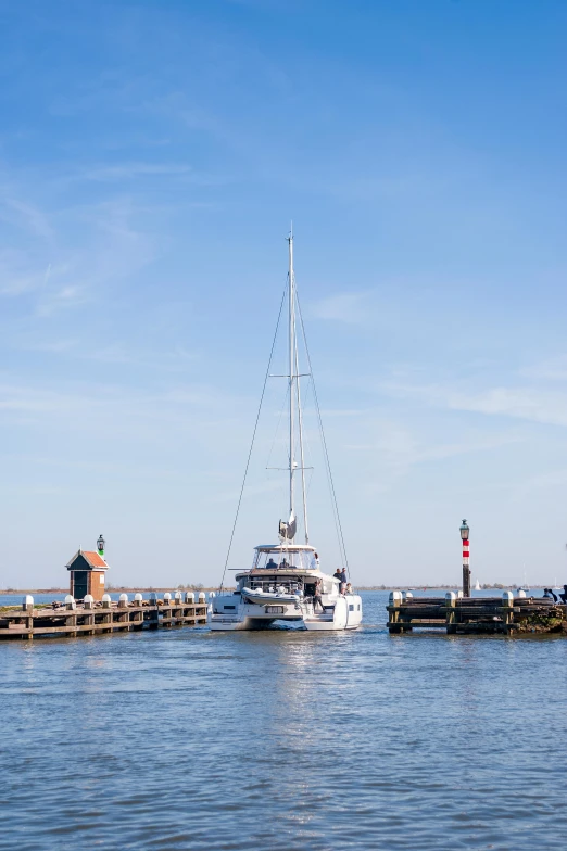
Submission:
[[[560,637],[0,644],[0,848],[564,849]]]

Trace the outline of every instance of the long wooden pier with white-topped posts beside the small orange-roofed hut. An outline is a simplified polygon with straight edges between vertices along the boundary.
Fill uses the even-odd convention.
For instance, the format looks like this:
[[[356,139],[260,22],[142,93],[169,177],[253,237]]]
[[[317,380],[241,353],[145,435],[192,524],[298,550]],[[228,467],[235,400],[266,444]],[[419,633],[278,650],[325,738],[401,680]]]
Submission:
[[[163,599],[151,595],[149,600],[136,594],[134,601],[121,594],[118,601],[104,595],[101,602],[85,597],[76,604],[67,596],[65,602],[55,606],[34,606],[30,596],[24,597],[22,608],[0,608],[0,639],[38,636],[61,636],[75,638],[78,635],[103,635],[139,630],[158,630],[172,626],[197,626],[206,624],[207,604],[203,593],[194,601],[191,593],[177,592],[172,598],[164,594]]]

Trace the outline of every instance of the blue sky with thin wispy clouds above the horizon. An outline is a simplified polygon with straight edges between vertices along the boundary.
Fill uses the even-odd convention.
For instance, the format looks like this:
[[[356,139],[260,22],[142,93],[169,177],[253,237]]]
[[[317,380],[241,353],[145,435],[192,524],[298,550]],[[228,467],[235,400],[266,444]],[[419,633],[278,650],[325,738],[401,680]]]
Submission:
[[[115,583],[218,581],[291,218],[355,581],[457,583],[463,517],[481,582],[567,581],[566,35],[553,0],[0,3],[0,587],[101,531]],[[285,516],[281,390],[232,567]]]

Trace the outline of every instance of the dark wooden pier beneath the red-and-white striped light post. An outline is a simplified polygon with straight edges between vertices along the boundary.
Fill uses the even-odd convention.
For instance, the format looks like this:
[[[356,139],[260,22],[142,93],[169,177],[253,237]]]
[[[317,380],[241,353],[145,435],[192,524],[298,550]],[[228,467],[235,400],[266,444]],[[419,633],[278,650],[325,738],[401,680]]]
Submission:
[[[567,634],[567,606],[546,597],[413,597],[390,594],[388,630],[407,633],[415,628],[444,630],[448,634],[563,633]]]

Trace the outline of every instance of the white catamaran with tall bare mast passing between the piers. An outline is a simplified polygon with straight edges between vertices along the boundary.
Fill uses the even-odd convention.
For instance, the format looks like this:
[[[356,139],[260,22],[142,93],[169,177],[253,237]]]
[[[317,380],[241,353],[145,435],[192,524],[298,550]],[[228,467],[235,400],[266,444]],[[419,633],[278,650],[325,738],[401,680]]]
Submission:
[[[298,333],[297,333],[297,291],[293,275],[293,236],[290,233],[289,243],[289,272],[288,272],[288,343],[289,343],[289,520],[279,523],[279,541],[277,544],[262,544],[254,549],[254,558],[250,570],[236,572],[236,590],[224,589],[224,576],[227,570],[230,548],[238,520],[238,512],[244,482],[240,492],[237,517],[232,528],[232,536],[228,547],[225,563],[225,573],[218,594],[213,598],[209,622],[212,630],[259,630],[269,626],[274,621],[302,622],[306,630],[354,630],[362,621],[362,599],[351,589],[349,564],[342,531],[332,486],[332,477],[329,472],[331,497],[336,513],[339,533],[342,566],[335,575],[323,573],[319,569],[319,557],[314,546],[310,544],[307,524],[307,500],[305,488],[305,463],[303,453],[303,418],[300,392],[301,376],[313,374],[306,351],[308,372],[300,374]],[[300,315],[301,316],[301,315]],[[303,331],[303,323],[301,323]],[[277,329],[276,329],[277,333]],[[272,350],[274,352],[274,347]],[[270,355],[272,363],[272,355]],[[269,377],[269,364],[266,381]],[[265,383],[264,383],[265,389]],[[263,394],[262,394],[263,395]],[[316,402],[316,394],[314,392]],[[320,423],[320,412],[317,414]],[[260,416],[260,415],[259,415]],[[256,419],[257,427],[257,419]],[[255,436],[255,429],[254,429]],[[254,443],[252,439],[252,445]],[[322,428],[325,460],[328,467],[325,436]],[[299,449],[299,455],[298,455]],[[250,455],[252,454],[252,448]],[[250,463],[250,455],[248,462]],[[305,543],[295,543],[297,515],[295,488],[297,478],[301,479],[302,520]]]

